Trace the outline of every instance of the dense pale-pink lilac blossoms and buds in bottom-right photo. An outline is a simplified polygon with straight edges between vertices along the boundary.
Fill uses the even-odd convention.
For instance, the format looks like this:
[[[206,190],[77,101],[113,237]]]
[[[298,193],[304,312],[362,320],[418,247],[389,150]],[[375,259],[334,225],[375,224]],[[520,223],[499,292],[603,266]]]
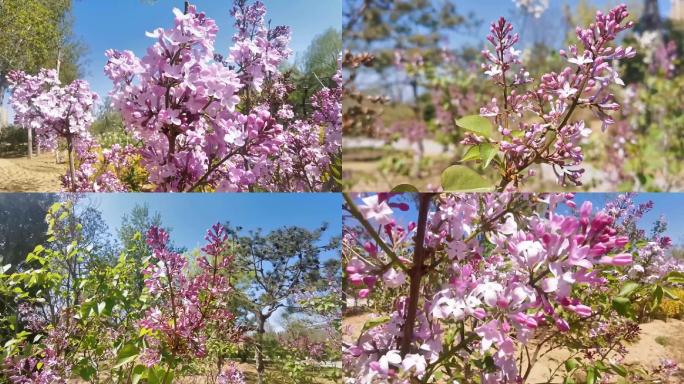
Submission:
[[[368,196],[358,207],[355,217],[381,228],[374,240],[359,244],[364,237],[352,230],[344,238],[347,279],[359,296],[379,287],[409,292],[411,286],[408,296],[396,298],[387,321],[347,346],[345,365],[359,383],[429,378],[450,354],[465,365],[491,355],[496,369],[483,370],[482,382],[517,382],[518,352],[537,328],[568,332],[597,310],[575,288],[604,289],[611,269],[633,262],[624,252],[629,238],[606,211],[594,212],[585,202],[575,214],[559,213],[561,205],[576,208],[572,195],[442,194],[424,229],[421,223],[400,226],[390,198]],[[522,214],[534,201],[545,206],[544,214]],[[421,238],[422,246],[406,244]],[[426,259],[407,253],[414,247]],[[414,291],[417,276],[429,282]],[[455,324],[464,333],[446,341]],[[465,332],[466,324],[473,324],[472,332]]]

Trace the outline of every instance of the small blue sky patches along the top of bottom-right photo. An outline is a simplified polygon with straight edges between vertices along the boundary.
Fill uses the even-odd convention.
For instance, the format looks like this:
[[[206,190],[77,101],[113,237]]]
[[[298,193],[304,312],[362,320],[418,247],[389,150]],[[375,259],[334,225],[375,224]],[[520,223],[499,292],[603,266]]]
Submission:
[[[363,196],[366,195],[368,194]],[[616,196],[617,194],[615,193],[577,193],[575,195],[575,202],[579,207],[584,201],[591,201],[594,211],[596,211]],[[674,244],[684,246],[684,193],[638,193],[633,199],[636,204],[645,203],[649,200],[652,200],[654,203],[653,210],[642,218],[641,225],[639,226],[641,229],[649,232],[655,221],[661,215],[664,215],[668,223],[666,234],[672,238]],[[361,202],[358,198],[356,201],[358,203]],[[410,221],[416,221],[418,211],[415,203],[407,199],[402,201],[409,202],[410,209],[407,212],[397,214],[398,221],[404,225]],[[395,210],[395,212],[398,212],[398,210]]]

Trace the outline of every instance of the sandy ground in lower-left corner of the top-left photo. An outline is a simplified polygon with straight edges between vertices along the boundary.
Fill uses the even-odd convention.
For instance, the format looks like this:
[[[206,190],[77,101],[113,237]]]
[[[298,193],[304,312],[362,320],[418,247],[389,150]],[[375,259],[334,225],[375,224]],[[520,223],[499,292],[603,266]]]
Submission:
[[[55,164],[52,153],[27,157],[0,158],[1,192],[59,192],[59,177],[66,173],[66,164]]]

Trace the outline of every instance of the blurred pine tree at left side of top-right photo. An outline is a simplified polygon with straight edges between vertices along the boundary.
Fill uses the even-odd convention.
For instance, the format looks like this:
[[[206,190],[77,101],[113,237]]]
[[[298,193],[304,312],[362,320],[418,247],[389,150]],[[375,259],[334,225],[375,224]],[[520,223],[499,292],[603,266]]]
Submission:
[[[447,0],[346,0],[343,17],[345,49],[362,56],[369,52],[373,57],[370,69],[364,65],[349,71],[348,82],[369,78],[357,72],[374,71],[371,76],[380,94],[394,95],[394,102],[411,107],[413,116],[402,119],[403,127],[399,129],[405,131],[403,134],[414,132],[410,135],[417,145],[411,174],[417,177],[424,153],[425,122],[432,117],[432,111],[426,108],[430,98],[423,92],[423,75],[444,63],[443,48],[449,35],[477,21],[473,15],[459,13],[455,2]],[[405,70],[397,70],[397,64]],[[353,90],[357,85],[345,89]],[[365,109],[354,103],[347,103],[345,108],[351,110],[350,115]]]

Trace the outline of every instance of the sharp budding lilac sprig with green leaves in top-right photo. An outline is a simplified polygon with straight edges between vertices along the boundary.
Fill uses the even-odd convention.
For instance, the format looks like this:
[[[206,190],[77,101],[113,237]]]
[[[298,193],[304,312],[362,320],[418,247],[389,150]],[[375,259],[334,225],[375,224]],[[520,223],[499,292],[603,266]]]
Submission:
[[[538,163],[551,165],[559,184],[580,185],[584,170],[576,167],[584,155],[579,144],[591,129],[583,120],[573,120],[573,114],[577,108],[590,110],[602,121],[603,130],[614,123],[610,112],[620,105],[609,86],[624,82],[611,62],[634,57],[635,51],[610,43],[633,27],[628,16],[626,6],[621,5],[607,14],[598,12],[588,28],[578,27],[580,47],[571,45],[560,51],[571,65],[541,75],[532,89],[526,89],[533,79],[521,66],[521,51],[515,49],[519,36],[512,33],[513,26],[506,19],[493,23],[487,40],[494,51],[482,52],[482,67],[501,90],[501,98],[493,98],[480,109],[480,115],[456,122],[468,131],[463,144],[470,148],[463,160],[481,161],[484,168],[493,164],[501,175],[498,191],[509,185],[518,188],[533,175],[528,168]],[[452,166],[442,174],[445,190],[488,186],[486,179],[463,166]]]

